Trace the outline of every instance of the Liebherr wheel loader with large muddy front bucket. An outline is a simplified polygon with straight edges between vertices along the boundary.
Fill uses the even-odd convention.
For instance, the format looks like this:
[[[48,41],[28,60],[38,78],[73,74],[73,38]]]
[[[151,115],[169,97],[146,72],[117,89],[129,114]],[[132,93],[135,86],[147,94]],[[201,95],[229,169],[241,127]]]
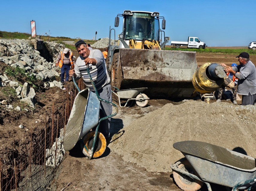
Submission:
[[[121,90],[146,87],[144,93],[151,98],[191,97],[192,77],[198,69],[196,52],[163,50],[169,37],[158,12],[125,10],[116,16],[115,27],[119,18],[123,26],[117,44],[110,45],[114,29],[109,31],[106,66],[111,85]]]

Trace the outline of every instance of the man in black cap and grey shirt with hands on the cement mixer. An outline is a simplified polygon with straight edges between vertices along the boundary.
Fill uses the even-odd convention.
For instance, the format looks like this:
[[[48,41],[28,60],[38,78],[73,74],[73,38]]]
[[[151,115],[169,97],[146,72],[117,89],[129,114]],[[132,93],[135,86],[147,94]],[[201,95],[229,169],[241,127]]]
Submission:
[[[256,99],[256,68],[247,52],[238,55],[238,66],[227,66],[222,63],[225,72],[238,78],[237,93],[242,95],[242,105],[253,105]]]

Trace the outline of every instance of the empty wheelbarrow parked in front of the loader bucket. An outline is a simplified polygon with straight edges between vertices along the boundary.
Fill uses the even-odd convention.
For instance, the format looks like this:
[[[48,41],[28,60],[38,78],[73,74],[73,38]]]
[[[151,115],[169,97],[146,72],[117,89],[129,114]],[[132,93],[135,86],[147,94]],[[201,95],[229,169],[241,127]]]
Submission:
[[[112,91],[112,93],[118,97],[119,106],[121,108],[125,107],[128,104],[128,102],[131,100],[132,101],[136,100],[136,104],[140,107],[145,107],[149,103],[149,97],[146,94],[141,93],[147,88],[119,90],[118,88],[116,88],[114,86],[112,86],[112,87],[116,90],[116,91]],[[121,106],[120,99],[127,99],[124,106]]]

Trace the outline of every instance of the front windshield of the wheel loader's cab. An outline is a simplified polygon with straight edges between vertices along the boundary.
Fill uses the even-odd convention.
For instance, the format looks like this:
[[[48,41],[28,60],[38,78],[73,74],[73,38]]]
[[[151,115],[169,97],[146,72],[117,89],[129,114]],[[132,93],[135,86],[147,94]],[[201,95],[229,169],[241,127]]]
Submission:
[[[154,17],[148,13],[125,15],[125,39],[154,38]]]

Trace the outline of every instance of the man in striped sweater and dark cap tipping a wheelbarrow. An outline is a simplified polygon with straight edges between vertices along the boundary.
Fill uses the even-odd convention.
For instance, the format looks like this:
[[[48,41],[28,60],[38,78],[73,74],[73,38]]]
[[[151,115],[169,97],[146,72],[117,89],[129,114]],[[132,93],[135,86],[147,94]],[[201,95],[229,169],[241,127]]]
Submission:
[[[87,64],[89,64],[89,72],[99,93],[99,97],[101,97],[103,100],[112,102],[110,77],[107,73],[102,52],[98,49],[89,50],[86,46],[86,43],[82,39],[75,43],[75,47],[80,56],[76,60],[75,68],[69,70],[69,76],[74,75],[75,80],[78,80],[80,77],[82,77],[84,84],[90,88],[90,91],[94,91],[87,74]],[[101,102],[100,108],[104,111],[100,113],[101,118],[112,114],[112,105]],[[109,129],[110,118],[103,120],[99,126],[99,132],[104,135],[107,140],[107,144],[110,142]]]

